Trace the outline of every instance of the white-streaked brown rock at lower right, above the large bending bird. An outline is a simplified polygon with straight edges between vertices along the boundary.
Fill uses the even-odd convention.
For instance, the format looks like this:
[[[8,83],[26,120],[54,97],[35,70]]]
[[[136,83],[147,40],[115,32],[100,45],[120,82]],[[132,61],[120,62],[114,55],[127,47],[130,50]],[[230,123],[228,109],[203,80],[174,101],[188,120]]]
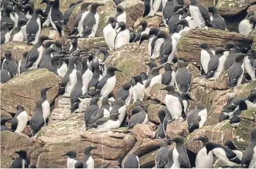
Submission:
[[[238,149],[245,149],[250,142],[250,128],[253,127],[253,122],[241,120],[238,128],[232,128],[229,120],[217,123],[215,125],[205,126],[194,130],[185,138],[187,149],[194,153],[198,153],[203,144],[199,141],[193,141],[201,135],[206,135],[210,142],[224,144],[226,141],[233,141]]]

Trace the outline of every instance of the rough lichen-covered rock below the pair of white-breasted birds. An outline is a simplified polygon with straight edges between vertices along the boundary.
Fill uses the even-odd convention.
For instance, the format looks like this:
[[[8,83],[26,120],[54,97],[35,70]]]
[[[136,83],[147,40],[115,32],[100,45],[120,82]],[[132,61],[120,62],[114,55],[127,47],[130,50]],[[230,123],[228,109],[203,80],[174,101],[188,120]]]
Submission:
[[[131,43],[120,47],[107,58],[106,65],[114,65],[122,70],[122,72],[116,72],[114,93],[133,76],[147,71],[147,66],[144,64],[149,60],[147,53],[147,44],[138,46],[136,43]]]

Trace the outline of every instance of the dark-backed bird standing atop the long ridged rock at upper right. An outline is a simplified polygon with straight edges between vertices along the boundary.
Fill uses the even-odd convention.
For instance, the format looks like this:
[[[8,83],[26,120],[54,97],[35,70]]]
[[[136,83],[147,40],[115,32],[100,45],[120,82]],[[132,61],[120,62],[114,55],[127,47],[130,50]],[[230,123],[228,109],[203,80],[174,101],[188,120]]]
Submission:
[[[212,16],[210,17],[210,25],[212,25],[213,28],[225,30],[226,29],[226,23],[224,18],[219,15],[218,10],[215,6],[211,5],[208,6],[209,13],[212,13]]]

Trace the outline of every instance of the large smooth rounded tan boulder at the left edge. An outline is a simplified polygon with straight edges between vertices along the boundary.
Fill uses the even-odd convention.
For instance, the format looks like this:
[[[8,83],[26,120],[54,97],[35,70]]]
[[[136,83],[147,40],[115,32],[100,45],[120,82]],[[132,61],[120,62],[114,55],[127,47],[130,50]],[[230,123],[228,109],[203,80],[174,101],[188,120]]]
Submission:
[[[50,104],[58,95],[58,78],[48,70],[31,70],[11,78],[6,84],[1,85],[1,110],[8,113],[16,112],[16,105],[24,106],[28,115],[32,115],[40,91],[43,87],[53,87],[47,92]]]

